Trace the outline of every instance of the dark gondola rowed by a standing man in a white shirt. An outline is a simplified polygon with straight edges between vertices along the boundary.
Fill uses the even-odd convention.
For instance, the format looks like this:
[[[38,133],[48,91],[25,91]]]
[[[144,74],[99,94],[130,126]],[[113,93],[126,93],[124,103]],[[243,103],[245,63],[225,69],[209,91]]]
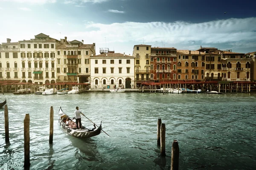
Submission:
[[[93,128],[93,129],[88,129],[84,126],[82,126],[81,129],[76,129],[76,128],[71,128],[67,126],[66,120],[67,118],[71,119],[64,111],[62,111],[61,107],[58,111],[58,117],[59,117],[59,125],[61,126],[62,129],[64,129],[68,134],[71,136],[75,136],[78,138],[90,138],[93,136],[97,136],[101,133],[102,131],[102,123],[100,123],[98,128]]]

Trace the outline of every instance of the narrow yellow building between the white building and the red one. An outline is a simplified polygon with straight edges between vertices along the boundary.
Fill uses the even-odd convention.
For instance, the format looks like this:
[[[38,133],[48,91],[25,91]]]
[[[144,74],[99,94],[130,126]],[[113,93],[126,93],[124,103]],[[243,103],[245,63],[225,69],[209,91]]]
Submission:
[[[150,77],[150,59],[151,45],[134,45],[133,57],[135,57],[135,81],[136,86],[143,82],[151,81]]]

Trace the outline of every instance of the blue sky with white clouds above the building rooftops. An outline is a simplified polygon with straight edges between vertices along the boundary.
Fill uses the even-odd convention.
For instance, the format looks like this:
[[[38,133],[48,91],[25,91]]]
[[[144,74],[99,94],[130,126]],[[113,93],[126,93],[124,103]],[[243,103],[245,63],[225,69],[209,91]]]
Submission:
[[[256,51],[255,0],[0,0],[0,43],[44,33],[132,55],[134,45]]]

